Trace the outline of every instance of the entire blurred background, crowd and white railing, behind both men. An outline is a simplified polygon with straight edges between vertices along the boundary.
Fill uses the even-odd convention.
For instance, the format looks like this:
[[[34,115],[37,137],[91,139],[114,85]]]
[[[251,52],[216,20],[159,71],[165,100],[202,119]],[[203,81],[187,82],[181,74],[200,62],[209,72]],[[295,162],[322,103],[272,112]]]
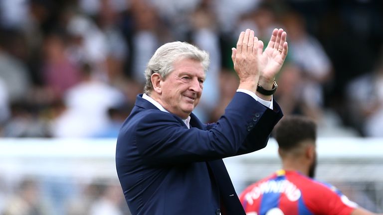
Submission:
[[[318,178],[383,212],[383,1],[1,0],[0,214],[129,214],[115,140],[148,60],[175,40],[209,52],[194,112],[212,122],[238,86],[231,47],[246,28],[265,43],[288,33],[274,99],[317,121],[328,146]],[[225,161],[238,193],[279,165],[257,153]],[[233,173],[242,168],[256,172]]]

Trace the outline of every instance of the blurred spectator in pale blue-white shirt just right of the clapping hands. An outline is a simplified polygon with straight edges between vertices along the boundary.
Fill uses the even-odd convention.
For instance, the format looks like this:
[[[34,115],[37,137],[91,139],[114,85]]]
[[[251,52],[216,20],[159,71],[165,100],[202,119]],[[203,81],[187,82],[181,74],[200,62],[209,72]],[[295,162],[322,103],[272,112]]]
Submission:
[[[331,79],[332,64],[319,41],[306,31],[298,13],[284,14],[282,22],[289,32],[290,60],[301,69],[300,92],[308,116],[320,120],[324,108],[323,87]]]

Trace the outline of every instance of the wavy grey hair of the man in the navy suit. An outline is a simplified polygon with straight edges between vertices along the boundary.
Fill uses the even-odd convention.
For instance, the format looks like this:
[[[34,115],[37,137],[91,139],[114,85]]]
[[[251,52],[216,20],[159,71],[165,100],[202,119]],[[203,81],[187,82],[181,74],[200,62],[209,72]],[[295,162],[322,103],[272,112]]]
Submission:
[[[153,90],[151,81],[153,73],[159,73],[161,77],[165,79],[171,72],[173,72],[173,64],[181,59],[192,59],[201,62],[205,73],[210,63],[208,53],[192,44],[180,41],[165,43],[157,49],[149,60],[145,70],[146,83],[144,93],[148,94]]]

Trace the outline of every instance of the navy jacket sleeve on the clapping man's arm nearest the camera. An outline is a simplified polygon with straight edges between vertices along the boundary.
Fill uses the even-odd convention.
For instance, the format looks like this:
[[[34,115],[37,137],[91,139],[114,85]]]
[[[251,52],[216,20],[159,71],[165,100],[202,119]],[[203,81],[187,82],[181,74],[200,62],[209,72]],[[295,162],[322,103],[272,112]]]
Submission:
[[[243,144],[253,140],[248,135],[256,128],[256,135],[251,138],[259,137],[262,141],[250,144],[259,145],[250,147],[251,151],[267,143],[272,126],[280,119],[279,114],[240,92],[208,130],[188,129],[171,113],[155,109],[143,112],[135,139],[140,154],[151,164],[198,162],[234,156],[238,151],[245,153],[249,149]]]

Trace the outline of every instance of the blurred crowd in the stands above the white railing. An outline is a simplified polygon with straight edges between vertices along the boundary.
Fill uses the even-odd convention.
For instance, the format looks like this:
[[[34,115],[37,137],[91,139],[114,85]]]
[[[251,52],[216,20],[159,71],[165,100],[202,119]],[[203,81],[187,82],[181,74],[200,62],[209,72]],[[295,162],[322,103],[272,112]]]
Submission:
[[[0,136],[116,137],[149,58],[175,40],[210,54],[195,113],[215,121],[238,86],[231,47],[246,28],[264,42],[288,33],[274,95],[285,114],[382,136],[381,11],[379,0],[1,0]]]

